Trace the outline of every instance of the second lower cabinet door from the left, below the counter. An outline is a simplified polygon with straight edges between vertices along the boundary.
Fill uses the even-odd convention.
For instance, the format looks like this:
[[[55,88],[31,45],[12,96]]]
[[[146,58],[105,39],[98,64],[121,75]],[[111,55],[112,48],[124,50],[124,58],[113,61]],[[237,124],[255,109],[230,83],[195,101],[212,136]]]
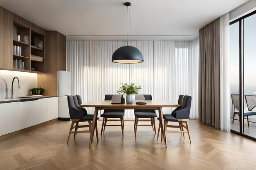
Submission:
[[[20,102],[20,129],[39,123],[39,101]]]

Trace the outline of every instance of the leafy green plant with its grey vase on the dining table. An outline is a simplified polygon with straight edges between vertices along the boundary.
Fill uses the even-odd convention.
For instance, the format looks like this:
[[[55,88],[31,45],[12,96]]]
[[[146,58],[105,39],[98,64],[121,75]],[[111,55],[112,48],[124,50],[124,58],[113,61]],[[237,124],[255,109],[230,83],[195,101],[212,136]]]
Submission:
[[[139,94],[141,86],[135,86],[134,82],[131,84],[120,83],[118,94],[126,94],[126,103],[133,103],[135,101],[135,94]]]

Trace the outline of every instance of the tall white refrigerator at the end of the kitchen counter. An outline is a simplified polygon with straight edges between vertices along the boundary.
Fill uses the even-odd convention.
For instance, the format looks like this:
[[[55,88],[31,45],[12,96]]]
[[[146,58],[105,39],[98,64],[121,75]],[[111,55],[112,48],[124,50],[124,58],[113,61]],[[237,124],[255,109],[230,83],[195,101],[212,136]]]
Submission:
[[[67,96],[72,95],[72,74],[70,71],[57,71],[58,79],[58,120],[70,120]]]

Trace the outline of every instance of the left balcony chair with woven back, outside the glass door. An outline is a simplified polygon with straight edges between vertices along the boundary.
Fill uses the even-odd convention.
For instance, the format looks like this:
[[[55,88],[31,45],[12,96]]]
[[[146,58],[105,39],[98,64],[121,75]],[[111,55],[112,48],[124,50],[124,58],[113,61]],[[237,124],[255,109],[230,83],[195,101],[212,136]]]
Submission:
[[[240,112],[239,112],[239,95],[231,95],[231,100],[233,104],[233,119],[232,119],[232,124],[234,124],[234,120],[239,120],[240,119]],[[246,100],[246,98],[245,98]],[[248,104],[247,104],[248,107]],[[237,111],[236,111],[237,110]],[[238,116],[239,119],[235,119],[235,116]],[[244,113],[244,119],[247,119],[247,124],[249,127],[249,113]]]

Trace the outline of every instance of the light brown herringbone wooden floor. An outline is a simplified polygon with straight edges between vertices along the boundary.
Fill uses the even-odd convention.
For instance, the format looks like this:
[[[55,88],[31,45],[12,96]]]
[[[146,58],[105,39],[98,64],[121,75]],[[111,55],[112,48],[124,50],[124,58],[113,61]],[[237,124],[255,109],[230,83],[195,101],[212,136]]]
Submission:
[[[89,133],[67,145],[70,124],[56,121],[0,140],[0,170],[256,170],[255,141],[198,120],[189,121],[192,144],[187,134],[168,133],[168,148],[151,127],[138,127],[135,141],[133,121],[124,122],[124,139],[121,127],[108,126],[91,149]]]

